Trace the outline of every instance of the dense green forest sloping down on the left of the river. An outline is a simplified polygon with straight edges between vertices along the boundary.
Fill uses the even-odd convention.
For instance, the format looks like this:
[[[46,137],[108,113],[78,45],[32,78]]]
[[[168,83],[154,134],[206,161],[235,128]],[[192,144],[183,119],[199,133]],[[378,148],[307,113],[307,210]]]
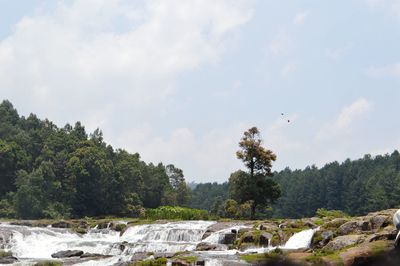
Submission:
[[[59,128],[0,104],[0,217],[138,216],[185,205],[189,193],[182,170],[114,150],[99,129]]]

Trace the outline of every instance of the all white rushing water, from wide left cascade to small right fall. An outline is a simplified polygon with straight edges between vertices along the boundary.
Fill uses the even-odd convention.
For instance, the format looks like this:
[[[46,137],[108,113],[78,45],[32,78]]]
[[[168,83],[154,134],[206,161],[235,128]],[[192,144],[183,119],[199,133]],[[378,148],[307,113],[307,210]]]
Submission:
[[[119,232],[106,229],[89,230],[87,234],[77,234],[68,229],[38,228],[0,224],[0,249],[11,251],[21,261],[32,262],[50,259],[51,255],[65,250],[80,250],[84,253],[109,255],[112,257],[97,260],[80,260],[74,265],[113,265],[121,261],[129,261],[137,253],[176,253],[193,251],[205,260],[206,265],[220,265],[221,256],[224,259],[237,258],[237,253],[262,253],[274,247],[247,249],[244,252],[223,245],[226,235],[245,228],[236,225],[211,233],[202,240],[204,233],[215,222],[182,221],[164,224],[147,224],[130,226],[121,235]],[[294,234],[282,249],[307,248],[314,232],[309,229]],[[221,246],[220,251],[194,251],[200,242]],[[25,265],[25,264],[22,264]],[[30,264],[29,264],[30,265]]]

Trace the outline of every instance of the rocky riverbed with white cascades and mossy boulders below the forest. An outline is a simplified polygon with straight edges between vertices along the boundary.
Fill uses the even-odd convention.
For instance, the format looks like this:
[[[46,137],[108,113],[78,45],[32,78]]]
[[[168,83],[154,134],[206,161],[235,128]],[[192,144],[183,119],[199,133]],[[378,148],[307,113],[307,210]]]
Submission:
[[[400,251],[394,247],[395,212],[149,224],[107,219],[7,221],[0,224],[0,264],[400,265]]]

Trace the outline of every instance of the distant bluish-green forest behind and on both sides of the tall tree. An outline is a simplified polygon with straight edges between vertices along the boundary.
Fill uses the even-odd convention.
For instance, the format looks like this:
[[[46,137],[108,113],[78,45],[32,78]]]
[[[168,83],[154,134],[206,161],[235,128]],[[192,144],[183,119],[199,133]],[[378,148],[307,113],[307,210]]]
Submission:
[[[376,157],[365,155],[362,159],[347,159],[343,163],[333,162],[322,168],[286,168],[275,172],[273,179],[280,185],[281,196],[271,209],[264,210],[268,217],[311,217],[319,208],[341,210],[351,215],[400,208],[398,151]],[[228,188],[228,183],[198,184],[193,190],[192,207],[227,216],[223,202],[228,200],[229,194],[222,191]],[[262,217],[260,214],[262,210],[259,212]]]

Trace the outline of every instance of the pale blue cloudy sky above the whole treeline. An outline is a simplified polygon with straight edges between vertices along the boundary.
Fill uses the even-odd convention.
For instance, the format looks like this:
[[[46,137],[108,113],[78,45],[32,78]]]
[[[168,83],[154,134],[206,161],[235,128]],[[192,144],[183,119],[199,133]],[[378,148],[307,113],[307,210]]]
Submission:
[[[399,149],[399,47],[398,0],[1,0],[0,98],[223,182],[252,126],[276,171]]]

